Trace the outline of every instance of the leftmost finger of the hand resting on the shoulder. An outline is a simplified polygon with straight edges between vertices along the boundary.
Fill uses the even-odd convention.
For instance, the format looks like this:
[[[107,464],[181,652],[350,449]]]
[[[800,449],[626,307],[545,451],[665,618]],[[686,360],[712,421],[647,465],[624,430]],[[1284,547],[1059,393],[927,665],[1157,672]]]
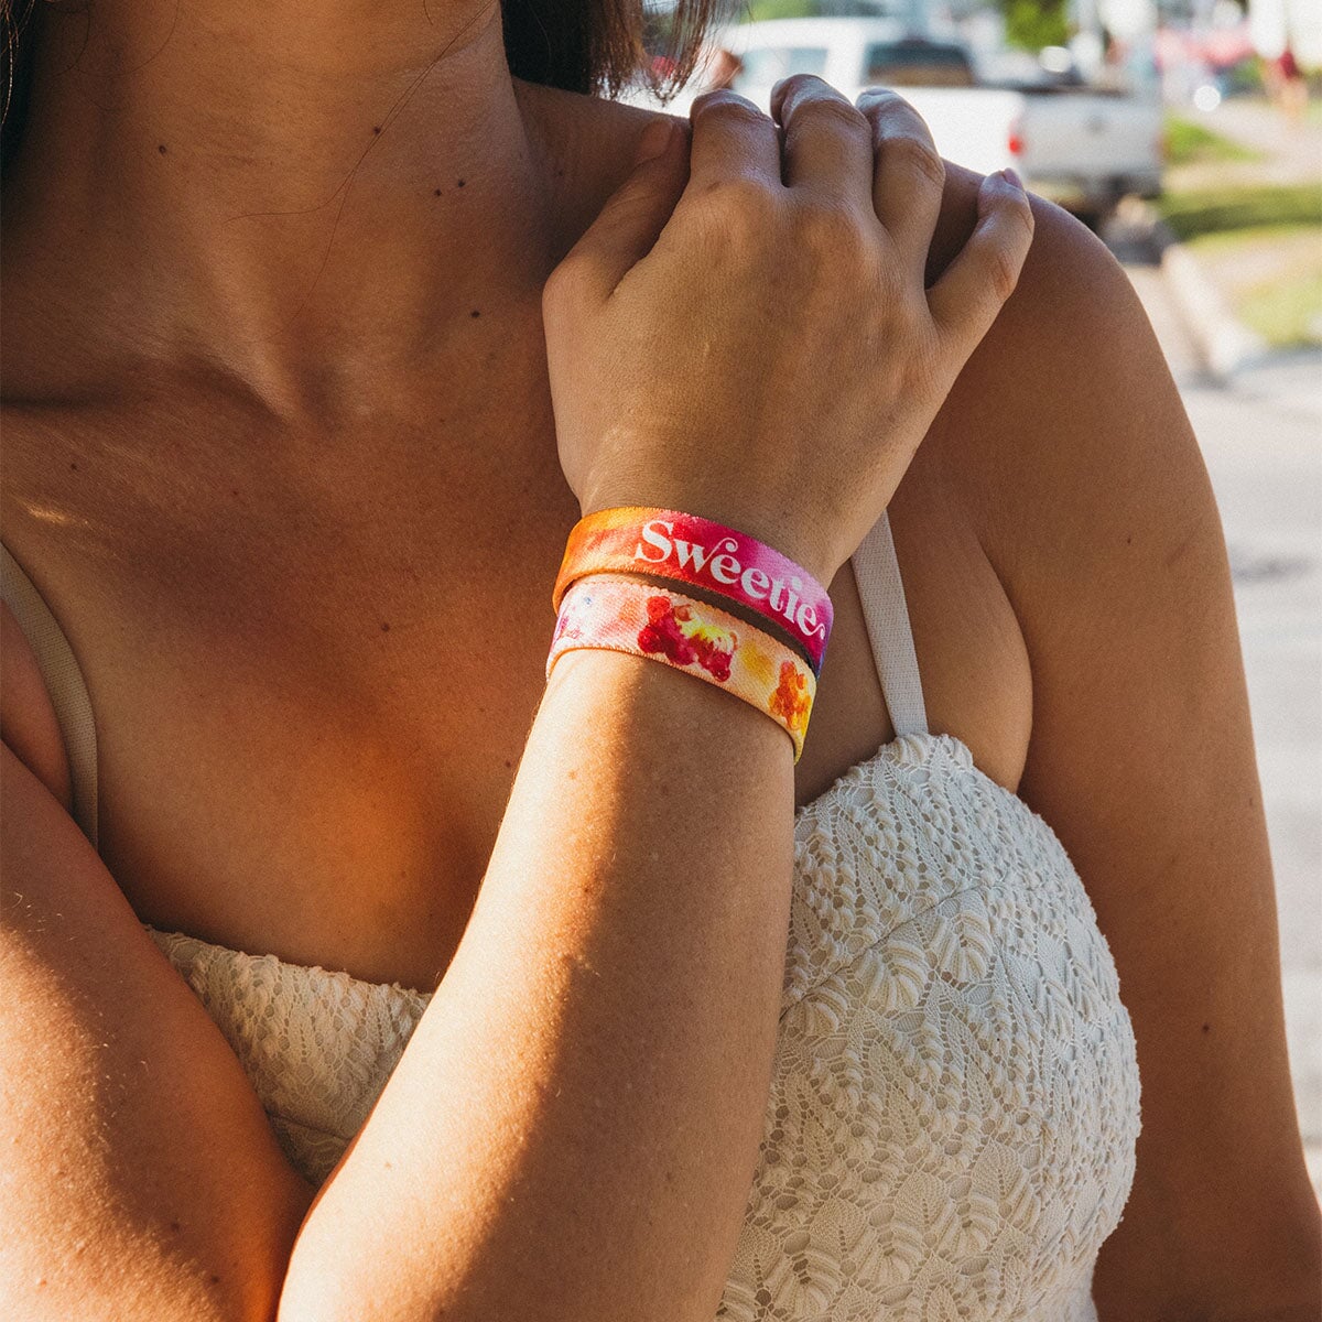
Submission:
[[[683,120],[669,115],[644,130],[633,171],[551,272],[543,309],[567,293],[604,303],[652,251],[683,193],[687,136]]]

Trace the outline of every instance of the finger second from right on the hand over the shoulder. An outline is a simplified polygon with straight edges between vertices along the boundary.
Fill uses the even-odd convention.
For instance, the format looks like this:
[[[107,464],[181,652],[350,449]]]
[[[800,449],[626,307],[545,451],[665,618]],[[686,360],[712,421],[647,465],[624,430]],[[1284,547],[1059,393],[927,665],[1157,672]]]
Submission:
[[[945,163],[923,116],[903,97],[870,87],[858,108],[873,134],[873,206],[908,271],[921,278],[941,214]]]

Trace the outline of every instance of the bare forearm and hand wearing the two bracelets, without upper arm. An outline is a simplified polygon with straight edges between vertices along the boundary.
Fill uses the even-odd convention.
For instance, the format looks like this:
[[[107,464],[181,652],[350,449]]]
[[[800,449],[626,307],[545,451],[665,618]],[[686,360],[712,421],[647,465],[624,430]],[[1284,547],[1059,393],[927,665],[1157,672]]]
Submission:
[[[809,79],[798,91],[821,97],[806,82],[824,87]],[[736,100],[710,137],[695,128],[697,186],[676,217],[694,214],[689,204],[713,229],[669,268],[662,260],[668,274],[652,276],[660,290],[648,286],[646,262],[631,271],[620,254],[640,200],[616,213],[621,225],[602,259],[621,256],[628,274],[613,293],[616,278],[605,282],[607,365],[591,362],[567,408],[557,397],[562,461],[580,500],[590,493],[584,508],[714,513],[755,535],[765,529],[765,541],[829,580],[898,484],[958,364],[929,362],[924,383],[896,383],[894,346],[910,332],[895,328],[891,356],[878,352],[884,334],[870,340],[878,299],[869,279],[851,274],[861,235],[841,200],[814,213],[809,242],[800,231],[779,253],[769,246],[785,214],[775,126]],[[837,100],[797,120],[787,112],[787,175],[792,181],[796,157],[802,169],[818,151],[832,180],[866,171],[867,208],[871,128],[849,111]],[[902,136],[903,126],[887,123]],[[723,134],[742,148],[731,171],[742,177],[703,186],[703,143],[719,145]],[[899,217],[896,229],[920,239],[887,267],[896,280],[887,316],[900,297],[924,300],[940,164],[935,152],[935,169],[915,164],[917,156],[906,152],[894,172],[911,169],[903,196],[883,197],[888,206],[863,218],[866,233],[883,212]],[[1010,223],[995,223],[989,206],[972,245],[986,264],[956,263],[956,279],[933,293],[957,301],[957,333],[974,336],[965,353],[1027,249],[1026,200],[1005,181],[999,189],[998,218]],[[990,185],[985,201],[997,192]],[[718,198],[720,209],[706,212]],[[662,259],[668,237],[656,242]],[[730,264],[759,250],[758,267],[731,290]],[[637,309],[662,299],[683,308],[694,292],[683,287],[685,270],[701,272],[695,320],[676,321],[676,342],[649,340],[654,330]],[[771,271],[780,279],[767,279]],[[591,291],[572,292],[592,301]],[[609,299],[625,307],[617,325]],[[767,336],[791,309],[796,336]],[[842,378],[805,368],[800,344],[809,333],[816,362],[870,361],[858,379],[879,383],[884,398],[854,399]],[[557,361],[563,369],[583,334],[566,330],[550,345],[553,389]],[[836,353],[830,336],[839,337]],[[649,391],[653,407],[633,430],[617,422],[631,416],[628,405],[594,390],[612,377],[616,389],[619,377],[633,377]],[[773,401],[767,381],[780,382]],[[906,416],[924,398],[925,418]],[[627,391],[624,399],[632,403]],[[879,414],[896,447],[907,447],[903,463],[878,455]],[[849,448],[833,456],[825,436],[849,438]],[[591,440],[575,449],[575,438]],[[718,479],[722,459],[731,468]],[[869,463],[878,465],[871,475]],[[612,472],[611,496],[627,498],[600,500]],[[789,914],[791,746],[751,707],[650,662],[572,661],[557,669],[538,711],[446,980],[300,1232],[282,1322],[705,1322],[719,1303],[771,1081]]]

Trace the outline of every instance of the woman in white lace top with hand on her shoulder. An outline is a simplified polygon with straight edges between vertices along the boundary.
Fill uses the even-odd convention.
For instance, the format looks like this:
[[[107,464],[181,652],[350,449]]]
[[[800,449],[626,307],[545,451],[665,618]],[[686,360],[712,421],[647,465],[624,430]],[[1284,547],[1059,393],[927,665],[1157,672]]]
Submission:
[[[24,34],[5,1315],[1305,1317],[1225,551],[1122,274],[894,98],[658,144],[583,95],[636,19]],[[830,583],[797,763],[648,658],[546,682],[628,505]]]

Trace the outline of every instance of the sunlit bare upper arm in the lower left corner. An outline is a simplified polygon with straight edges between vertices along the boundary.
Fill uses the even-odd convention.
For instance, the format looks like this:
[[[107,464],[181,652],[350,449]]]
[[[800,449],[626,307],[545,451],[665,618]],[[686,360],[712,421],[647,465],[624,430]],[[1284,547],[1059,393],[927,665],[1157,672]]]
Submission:
[[[0,1315],[268,1322],[311,1190],[69,813],[0,759]]]

